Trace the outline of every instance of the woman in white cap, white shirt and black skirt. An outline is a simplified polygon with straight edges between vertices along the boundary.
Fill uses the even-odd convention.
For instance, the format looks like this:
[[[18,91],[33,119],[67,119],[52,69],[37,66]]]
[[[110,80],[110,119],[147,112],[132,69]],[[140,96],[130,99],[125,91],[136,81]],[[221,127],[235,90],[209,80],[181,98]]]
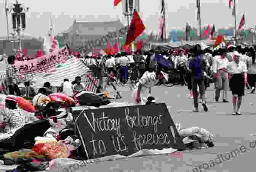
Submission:
[[[234,52],[233,61],[227,65],[227,72],[233,95],[234,111],[232,115],[241,115],[242,96],[245,95],[245,84],[247,83],[247,66],[240,60],[240,54],[237,51]]]

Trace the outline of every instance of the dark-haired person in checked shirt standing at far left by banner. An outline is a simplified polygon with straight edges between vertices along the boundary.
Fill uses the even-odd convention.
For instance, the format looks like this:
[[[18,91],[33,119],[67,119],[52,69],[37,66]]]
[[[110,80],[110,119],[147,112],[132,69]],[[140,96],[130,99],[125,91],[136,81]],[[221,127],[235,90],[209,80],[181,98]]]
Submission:
[[[18,87],[18,69],[14,66],[15,56],[11,55],[7,58],[8,65],[6,67],[6,85],[9,88],[9,94],[21,96],[21,91]]]

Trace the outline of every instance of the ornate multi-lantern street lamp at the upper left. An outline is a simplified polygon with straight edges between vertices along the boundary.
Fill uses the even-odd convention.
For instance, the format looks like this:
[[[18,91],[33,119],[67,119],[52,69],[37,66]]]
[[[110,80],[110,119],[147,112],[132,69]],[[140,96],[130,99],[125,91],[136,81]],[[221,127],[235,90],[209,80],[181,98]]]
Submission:
[[[19,42],[19,49],[13,49],[13,51],[21,52],[21,31],[26,29],[26,13],[29,11],[29,8],[26,8],[23,4],[16,0],[16,3],[13,4],[12,7],[6,8],[6,11],[12,16],[14,34],[11,35],[15,35]]]

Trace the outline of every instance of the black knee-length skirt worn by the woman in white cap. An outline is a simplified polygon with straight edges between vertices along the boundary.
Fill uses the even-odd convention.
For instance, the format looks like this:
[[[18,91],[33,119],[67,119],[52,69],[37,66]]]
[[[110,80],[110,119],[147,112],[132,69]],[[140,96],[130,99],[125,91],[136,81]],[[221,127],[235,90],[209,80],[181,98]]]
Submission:
[[[245,83],[243,74],[233,74],[230,79],[230,88],[232,95],[244,96]]]

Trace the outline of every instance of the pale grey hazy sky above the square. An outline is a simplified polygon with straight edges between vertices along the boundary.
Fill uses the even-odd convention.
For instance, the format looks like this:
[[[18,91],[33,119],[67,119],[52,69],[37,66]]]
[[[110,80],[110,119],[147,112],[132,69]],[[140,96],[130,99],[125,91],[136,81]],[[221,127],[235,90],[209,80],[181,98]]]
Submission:
[[[4,0],[0,4],[0,36],[6,36],[6,17],[4,12]],[[166,25],[167,30],[172,28],[184,28],[188,21],[192,27],[198,27],[196,21],[196,0],[166,0]],[[15,0],[8,0],[15,3]],[[49,16],[53,16],[55,33],[60,33],[70,27],[74,20],[85,22],[114,21],[122,16],[122,4],[114,7],[114,0],[19,0],[30,7],[27,13],[27,29],[25,33],[32,36],[45,36],[49,29]],[[254,7],[253,0],[237,0],[237,25],[245,12],[245,28],[253,27]],[[158,30],[160,0],[141,0],[140,15],[149,31]],[[234,26],[232,10],[228,7],[228,0],[201,0],[202,26],[215,24],[216,28]],[[11,16],[9,15],[10,32]]]

